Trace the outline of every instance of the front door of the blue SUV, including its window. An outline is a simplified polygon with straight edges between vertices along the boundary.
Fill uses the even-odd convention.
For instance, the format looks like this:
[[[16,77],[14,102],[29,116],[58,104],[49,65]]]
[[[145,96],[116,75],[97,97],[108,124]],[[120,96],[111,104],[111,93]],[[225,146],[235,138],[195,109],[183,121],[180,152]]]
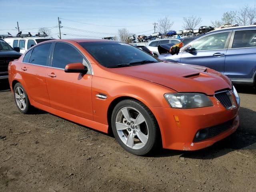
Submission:
[[[182,54],[180,62],[206,66],[224,73],[225,56],[231,33],[228,31],[209,34],[192,42],[180,52]],[[192,51],[186,52],[186,48],[190,45]]]

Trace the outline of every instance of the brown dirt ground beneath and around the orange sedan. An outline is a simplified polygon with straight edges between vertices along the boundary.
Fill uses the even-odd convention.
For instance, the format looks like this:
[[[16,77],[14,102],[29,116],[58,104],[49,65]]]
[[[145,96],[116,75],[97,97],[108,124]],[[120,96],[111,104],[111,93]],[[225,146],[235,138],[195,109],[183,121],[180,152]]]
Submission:
[[[47,112],[18,112],[2,81],[0,192],[255,192],[256,92],[238,92],[240,127],[228,138],[199,151],[140,157],[112,136]]]

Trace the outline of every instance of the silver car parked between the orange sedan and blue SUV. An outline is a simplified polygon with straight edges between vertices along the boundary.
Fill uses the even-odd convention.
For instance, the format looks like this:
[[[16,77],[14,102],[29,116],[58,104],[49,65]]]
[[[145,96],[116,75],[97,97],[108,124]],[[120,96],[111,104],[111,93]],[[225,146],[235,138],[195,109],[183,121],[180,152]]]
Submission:
[[[155,57],[158,57],[159,56],[159,52],[157,49],[158,45],[169,44],[169,43],[177,44],[180,41],[181,39],[178,39],[178,38],[156,39],[156,40],[149,41],[146,47],[150,51],[152,51]]]

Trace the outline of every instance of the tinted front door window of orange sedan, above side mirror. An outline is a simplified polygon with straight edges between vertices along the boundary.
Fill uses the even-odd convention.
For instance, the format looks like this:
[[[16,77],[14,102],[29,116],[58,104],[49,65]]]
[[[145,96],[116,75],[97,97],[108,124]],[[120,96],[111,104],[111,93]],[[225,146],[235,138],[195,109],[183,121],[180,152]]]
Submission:
[[[83,63],[82,54],[66,43],[56,43],[53,52],[52,66],[64,69],[65,66],[70,63]]]

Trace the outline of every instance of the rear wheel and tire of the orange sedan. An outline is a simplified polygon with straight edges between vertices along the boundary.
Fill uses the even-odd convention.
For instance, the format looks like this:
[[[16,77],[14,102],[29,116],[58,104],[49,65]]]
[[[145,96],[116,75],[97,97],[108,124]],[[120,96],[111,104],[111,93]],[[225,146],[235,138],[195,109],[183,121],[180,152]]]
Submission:
[[[16,83],[13,89],[14,101],[18,110],[24,114],[28,114],[32,110],[28,95],[24,87],[20,83]]]

